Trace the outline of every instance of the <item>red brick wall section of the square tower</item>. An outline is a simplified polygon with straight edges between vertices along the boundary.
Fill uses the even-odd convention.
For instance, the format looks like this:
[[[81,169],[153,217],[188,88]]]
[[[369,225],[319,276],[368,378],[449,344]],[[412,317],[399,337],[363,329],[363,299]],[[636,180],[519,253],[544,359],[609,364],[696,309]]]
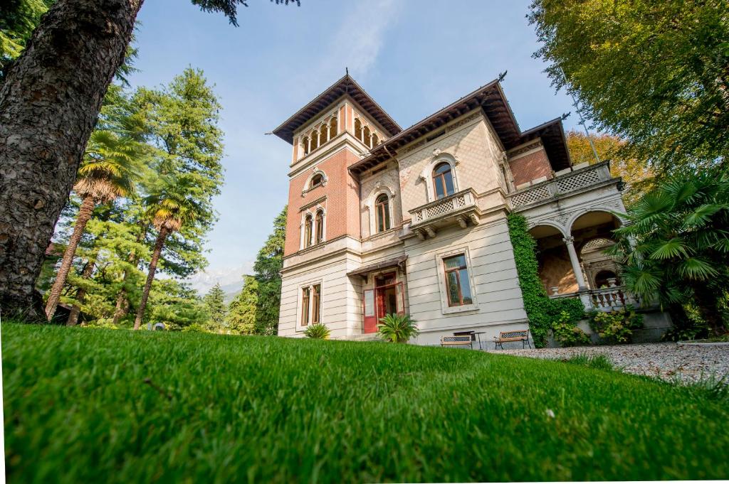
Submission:
[[[301,196],[301,191],[314,167],[292,178],[289,183],[289,212],[286,219],[284,255],[295,253],[301,247],[301,207],[324,195],[327,196],[327,200],[322,203],[327,213],[326,239],[331,240],[345,234],[359,239],[359,184],[347,170],[349,165],[358,162],[359,159],[359,156],[344,149],[317,164],[316,169],[327,175],[327,184],[308,191],[304,197]]]

